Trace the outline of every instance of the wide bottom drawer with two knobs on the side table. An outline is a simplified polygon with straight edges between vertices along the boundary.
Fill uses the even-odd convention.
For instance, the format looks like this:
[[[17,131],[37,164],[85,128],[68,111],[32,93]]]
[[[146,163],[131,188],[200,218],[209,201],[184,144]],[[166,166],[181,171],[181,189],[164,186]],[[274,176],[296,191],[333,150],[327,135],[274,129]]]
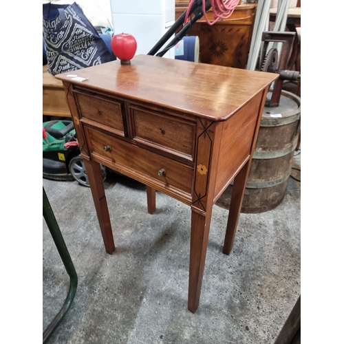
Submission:
[[[191,195],[193,168],[96,129],[85,127],[85,133],[91,156],[98,162],[162,192]],[[160,176],[162,169],[166,173]]]

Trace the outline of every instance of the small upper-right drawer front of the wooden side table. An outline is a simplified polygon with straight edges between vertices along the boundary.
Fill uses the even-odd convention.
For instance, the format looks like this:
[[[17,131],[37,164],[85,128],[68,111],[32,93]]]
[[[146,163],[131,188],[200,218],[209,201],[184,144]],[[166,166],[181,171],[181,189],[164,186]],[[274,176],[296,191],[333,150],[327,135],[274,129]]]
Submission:
[[[133,140],[193,161],[196,124],[182,118],[129,106]]]

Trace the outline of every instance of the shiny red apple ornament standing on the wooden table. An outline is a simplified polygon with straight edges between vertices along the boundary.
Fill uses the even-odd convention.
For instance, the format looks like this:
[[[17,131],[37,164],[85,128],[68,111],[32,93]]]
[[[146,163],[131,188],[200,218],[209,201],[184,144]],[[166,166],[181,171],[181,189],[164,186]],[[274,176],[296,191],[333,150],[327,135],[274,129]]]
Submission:
[[[111,49],[120,59],[120,63],[128,64],[136,53],[136,39],[131,34],[115,34],[111,39]]]

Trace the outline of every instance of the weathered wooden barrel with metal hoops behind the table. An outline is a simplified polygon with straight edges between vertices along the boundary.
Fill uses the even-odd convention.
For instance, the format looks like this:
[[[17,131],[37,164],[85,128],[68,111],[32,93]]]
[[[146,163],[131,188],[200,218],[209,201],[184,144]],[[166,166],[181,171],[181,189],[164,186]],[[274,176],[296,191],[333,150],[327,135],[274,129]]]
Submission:
[[[283,201],[299,138],[300,116],[301,99],[287,91],[281,92],[278,107],[264,107],[241,213],[262,213]],[[229,185],[217,205],[228,208],[231,189]]]

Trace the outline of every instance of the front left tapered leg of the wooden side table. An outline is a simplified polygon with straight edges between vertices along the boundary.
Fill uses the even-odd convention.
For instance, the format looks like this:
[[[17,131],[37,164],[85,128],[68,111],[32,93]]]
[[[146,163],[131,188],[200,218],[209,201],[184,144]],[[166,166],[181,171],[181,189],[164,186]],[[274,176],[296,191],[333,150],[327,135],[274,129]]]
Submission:
[[[103,235],[105,250],[112,253],[115,250],[114,236],[112,235],[111,222],[109,217],[109,209],[107,208],[107,200],[105,197],[105,189],[103,176],[100,171],[100,164],[93,160],[84,159],[85,168],[91,187],[94,206],[98,216],[99,226]]]

